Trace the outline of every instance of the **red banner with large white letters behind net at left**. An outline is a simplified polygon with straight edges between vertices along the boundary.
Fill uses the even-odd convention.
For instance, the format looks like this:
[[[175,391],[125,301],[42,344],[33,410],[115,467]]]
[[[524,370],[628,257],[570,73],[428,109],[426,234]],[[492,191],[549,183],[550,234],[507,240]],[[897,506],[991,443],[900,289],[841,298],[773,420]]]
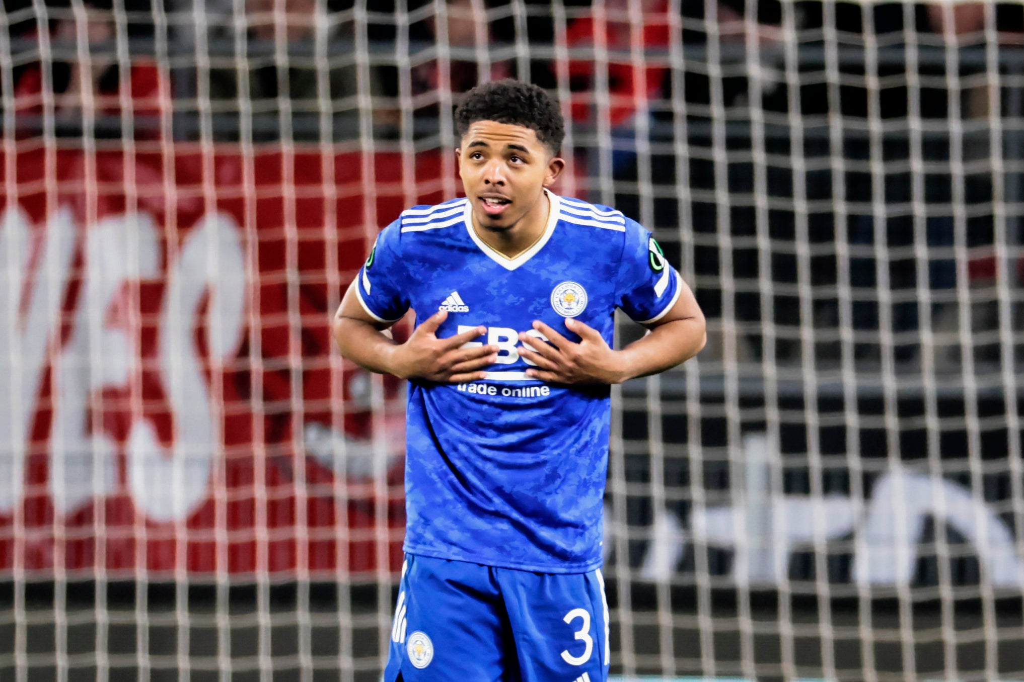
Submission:
[[[440,157],[0,160],[0,572],[397,569],[399,387],[330,318],[379,227],[454,190]]]

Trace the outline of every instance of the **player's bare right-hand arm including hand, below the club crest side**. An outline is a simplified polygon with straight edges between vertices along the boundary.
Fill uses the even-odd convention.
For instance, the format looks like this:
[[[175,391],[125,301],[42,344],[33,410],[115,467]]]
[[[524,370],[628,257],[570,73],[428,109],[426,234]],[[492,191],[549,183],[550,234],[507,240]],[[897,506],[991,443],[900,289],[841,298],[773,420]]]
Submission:
[[[600,332],[568,318],[565,326],[580,336],[574,344],[547,324],[537,321],[534,328],[551,343],[525,333],[520,350],[537,369],[526,375],[552,383],[621,383],[637,376],[656,374],[686,362],[705,347],[708,339],[703,313],[693,291],[679,280],[679,298],[655,322],[645,324],[649,333],[621,351],[612,350]]]

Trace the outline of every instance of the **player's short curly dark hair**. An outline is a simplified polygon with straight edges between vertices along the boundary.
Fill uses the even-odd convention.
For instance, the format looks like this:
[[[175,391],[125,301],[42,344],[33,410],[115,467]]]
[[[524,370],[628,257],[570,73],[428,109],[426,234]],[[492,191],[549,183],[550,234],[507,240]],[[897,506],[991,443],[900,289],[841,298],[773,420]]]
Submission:
[[[529,128],[553,154],[561,150],[565,137],[565,121],[558,103],[542,88],[511,78],[483,83],[466,93],[455,110],[459,137],[477,121]]]

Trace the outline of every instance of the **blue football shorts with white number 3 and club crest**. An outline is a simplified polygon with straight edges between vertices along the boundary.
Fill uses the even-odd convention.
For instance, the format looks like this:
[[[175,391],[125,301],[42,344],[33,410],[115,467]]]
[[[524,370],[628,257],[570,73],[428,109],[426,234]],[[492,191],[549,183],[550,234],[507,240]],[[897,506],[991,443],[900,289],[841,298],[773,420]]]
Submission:
[[[605,682],[608,662],[599,570],[406,555],[384,682]]]

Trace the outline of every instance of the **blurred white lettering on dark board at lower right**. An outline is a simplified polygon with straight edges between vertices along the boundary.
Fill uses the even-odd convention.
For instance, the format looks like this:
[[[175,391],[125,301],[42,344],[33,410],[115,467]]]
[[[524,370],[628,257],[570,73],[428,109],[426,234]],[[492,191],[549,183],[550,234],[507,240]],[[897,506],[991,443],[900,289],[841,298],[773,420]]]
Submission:
[[[834,573],[842,574],[829,580],[906,587],[921,582],[916,574],[922,562],[935,562],[929,527],[934,535],[934,527],[941,525],[955,538],[951,546],[969,548],[947,552],[975,559],[990,586],[1013,589],[1024,583],[1024,555],[1011,521],[998,504],[968,486],[893,466],[874,479],[863,500],[786,495],[766,483],[776,478],[772,469],[781,461],[769,440],[750,436],[743,450],[745,470],[738,478],[748,485],[733,491],[733,504],[692,508],[685,519],[667,508],[653,512],[649,540],[636,566],[641,580],[669,581],[680,573],[687,554],[708,548],[729,557],[716,575],[740,586],[763,589],[799,580],[803,576],[794,570],[794,558],[820,551],[829,555]],[[614,517],[612,509],[605,511],[607,518]],[[606,555],[616,546],[615,528],[609,525],[606,533]],[[967,582],[956,576],[952,580]]]

